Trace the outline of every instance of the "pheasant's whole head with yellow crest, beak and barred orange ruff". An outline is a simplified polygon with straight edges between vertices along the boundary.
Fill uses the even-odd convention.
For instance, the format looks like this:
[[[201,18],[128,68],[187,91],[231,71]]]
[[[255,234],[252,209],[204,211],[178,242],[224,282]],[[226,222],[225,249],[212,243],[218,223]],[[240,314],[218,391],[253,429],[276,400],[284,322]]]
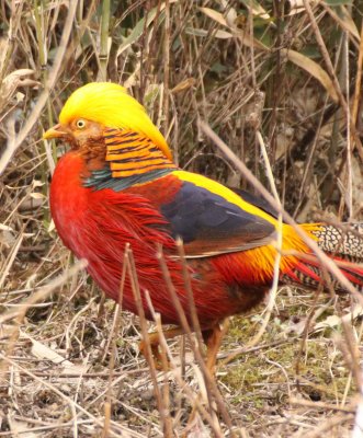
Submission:
[[[125,88],[110,82],[76,90],[61,110],[59,124],[43,138],[63,139],[88,161],[110,162],[114,177],[163,169],[172,161],[166,139],[144,106]]]

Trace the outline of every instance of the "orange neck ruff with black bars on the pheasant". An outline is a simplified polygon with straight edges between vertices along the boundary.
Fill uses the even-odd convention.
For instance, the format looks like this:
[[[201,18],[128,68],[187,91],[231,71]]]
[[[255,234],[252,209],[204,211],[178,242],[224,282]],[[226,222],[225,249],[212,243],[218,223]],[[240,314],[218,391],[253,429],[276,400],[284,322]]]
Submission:
[[[114,178],[177,169],[149,138],[127,129],[105,129],[105,161]]]

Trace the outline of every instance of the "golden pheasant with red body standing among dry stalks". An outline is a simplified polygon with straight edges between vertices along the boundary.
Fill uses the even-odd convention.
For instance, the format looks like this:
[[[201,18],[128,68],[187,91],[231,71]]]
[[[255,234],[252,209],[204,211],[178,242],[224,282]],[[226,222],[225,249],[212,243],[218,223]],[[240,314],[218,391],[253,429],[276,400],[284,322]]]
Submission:
[[[61,139],[71,148],[58,161],[50,187],[58,233],[77,257],[88,261],[89,274],[109,297],[118,299],[124,251],[129,244],[146,316],[152,319],[145,295],[148,291],[162,322],[180,325],[180,313],[156,255],[157,246],[162,246],[190,321],[178,238],[183,241],[207,345],[213,344],[220,321],[251,309],[265,297],[277,254],[279,222],[273,211],[242,191],[234,192],[179,169],[160,131],[124,88],[89,83],[78,89],[63,107],[59,124],[44,138]],[[348,232],[325,223],[299,227],[362,291],[363,224],[354,224]],[[280,279],[310,289],[319,285],[327,288],[327,279],[329,283],[317,257],[286,223],[282,224]],[[334,285],[342,289],[337,281]],[[122,307],[137,312],[128,276]],[[170,336],[175,333],[179,331],[171,331]]]

